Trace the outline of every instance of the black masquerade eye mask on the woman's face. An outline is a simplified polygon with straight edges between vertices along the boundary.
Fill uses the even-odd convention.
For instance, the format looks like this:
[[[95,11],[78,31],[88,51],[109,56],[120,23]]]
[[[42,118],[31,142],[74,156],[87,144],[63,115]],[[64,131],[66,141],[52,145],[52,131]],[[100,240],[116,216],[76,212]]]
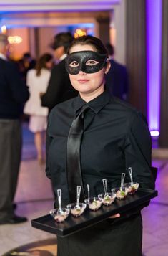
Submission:
[[[106,65],[107,54],[93,51],[73,52],[66,57],[65,62],[66,71],[71,75],[77,75],[80,70],[85,73],[96,73]]]

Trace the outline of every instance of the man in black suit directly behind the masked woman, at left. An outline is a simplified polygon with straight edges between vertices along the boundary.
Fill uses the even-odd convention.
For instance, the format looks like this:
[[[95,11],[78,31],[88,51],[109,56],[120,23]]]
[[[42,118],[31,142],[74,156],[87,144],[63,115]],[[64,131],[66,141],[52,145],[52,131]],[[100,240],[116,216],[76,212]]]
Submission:
[[[56,34],[54,41],[51,44],[59,64],[55,65],[52,69],[49,86],[46,93],[41,95],[41,105],[48,107],[49,112],[56,104],[78,95],[78,92],[71,86],[69,75],[65,69],[66,52],[73,39],[71,33],[62,32]]]

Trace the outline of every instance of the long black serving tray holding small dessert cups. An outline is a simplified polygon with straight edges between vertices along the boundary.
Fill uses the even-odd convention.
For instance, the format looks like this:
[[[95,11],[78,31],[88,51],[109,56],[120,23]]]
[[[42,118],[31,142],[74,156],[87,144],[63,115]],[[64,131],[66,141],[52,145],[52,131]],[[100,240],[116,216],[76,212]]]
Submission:
[[[46,232],[56,234],[60,237],[65,237],[69,234],[73,234],[74,232],[89,227],[92,224],[101,222],[111,215],[122,213],[144,204],[144,202],[148,202],[150,199],[156,196],[156,190],[138,189],[135,194],[128,194],[124,200],[115,199],[112,205],[109,207],[103,205],[96,212],[93,212],[87,208],[84,214],[82,214],[80,217],[73,217],[71,214],[69,214],[69,217],[67,217],[65,222],[62,223],[57,223],[50,214],[47,214],[31,220],[31,225],[36,229],[41,229]]]

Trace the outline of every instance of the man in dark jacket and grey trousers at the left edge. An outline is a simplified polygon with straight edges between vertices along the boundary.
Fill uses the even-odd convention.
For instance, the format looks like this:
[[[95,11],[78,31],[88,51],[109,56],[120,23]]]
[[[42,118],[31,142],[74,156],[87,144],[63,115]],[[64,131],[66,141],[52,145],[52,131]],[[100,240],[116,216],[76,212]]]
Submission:
[[[19,70],[6,55],[9,42],[0,34],[0,224],[26,222],[14,214],[14,195],[21,161],[21,113],[29,98]]]

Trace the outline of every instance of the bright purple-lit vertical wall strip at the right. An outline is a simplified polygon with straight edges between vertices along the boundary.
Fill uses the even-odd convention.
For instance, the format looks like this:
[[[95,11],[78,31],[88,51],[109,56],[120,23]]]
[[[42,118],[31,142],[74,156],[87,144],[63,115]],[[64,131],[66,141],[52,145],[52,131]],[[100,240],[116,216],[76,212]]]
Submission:
[[[162,0],[147,0],[147,116],[153,136],[159,136],[161,86]]]

